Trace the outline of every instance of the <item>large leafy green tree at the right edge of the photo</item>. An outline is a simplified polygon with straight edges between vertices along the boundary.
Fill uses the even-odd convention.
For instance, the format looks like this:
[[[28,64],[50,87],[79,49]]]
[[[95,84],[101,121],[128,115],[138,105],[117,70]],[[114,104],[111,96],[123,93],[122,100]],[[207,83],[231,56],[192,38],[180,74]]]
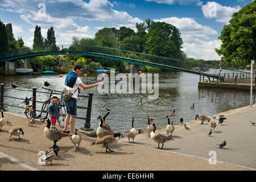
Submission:
[[[256,59],[256,1],[232,15],[218,39],[222,44],[215,49],[225,62],[237,65],[250,64]]]

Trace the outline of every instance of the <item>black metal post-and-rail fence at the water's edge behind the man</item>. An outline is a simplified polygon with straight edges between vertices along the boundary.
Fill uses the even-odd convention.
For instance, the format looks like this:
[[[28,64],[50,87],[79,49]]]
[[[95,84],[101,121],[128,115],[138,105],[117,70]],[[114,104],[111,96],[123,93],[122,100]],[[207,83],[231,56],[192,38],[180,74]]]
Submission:
[[[10,87],[5,87],[5,84],[0,84],[1,86],[1,90],[0,90],[0,109],[5,111],[5,107],[4,106],[10,106],[10,107],[18,107],[20,109],[26,109],[25,107],[21,107],[21,106],[17,106],[17,105],[12,105],[12,104],[7,104],[4,102],[4,98],[13,98],[15,100],[24,100],[24,98],[19,98],[19,97],[13,97],[13,96],[5,96],[5,89],[12,89],[12,90],[20,90],[20,91],[24,91],[24,92],[32,92],[32,108],[34,110],[34,117],[36,117],[36,111],[41,112],[41,110],[37,110],[36,109],[36,103],[44,103],[43,101],[37,101],[36,100],[36,93],[46,93],[49,94],[48,92],[42,92],[42,91],[38,91],[37,88],[32,88],[32,90],[27,90],[27,89],[16,89],[16,88],[10,88]],[[59,94],[60,93],[56,93],[53,92],[52,94]],[[82,130],[85,131],[89,131],[89,130],[93,130],[90,129],[90,120],[91,120],[91,113],[92,113],[92,100],[93,100],[93,93],[89,93],[88,96],[84,96],[84,95],[79,95],[79,97],[86,97],[88,98],[88,105],[87,107],[82,107],[82,106],[77,106],[77,109],[86,109],[86,118],[85,117],[76,117],[77,119],[84,119],[85,123],[84,123],[84,127],[81,127]],[[64,105],[63,105],[64,106]]]

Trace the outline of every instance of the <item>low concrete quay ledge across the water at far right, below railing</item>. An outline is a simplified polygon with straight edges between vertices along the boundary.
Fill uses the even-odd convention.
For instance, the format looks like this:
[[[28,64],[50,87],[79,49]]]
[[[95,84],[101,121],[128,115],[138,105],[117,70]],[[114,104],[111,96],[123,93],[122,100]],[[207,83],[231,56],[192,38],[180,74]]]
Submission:
[[[198,82],[198,87],[203,88],[221,88],[221,89],[238,89],[238,90],[250,90],[250,84],[233,84],[225,82]],[[253,90],[256,90],[255,84],[253,84]]]

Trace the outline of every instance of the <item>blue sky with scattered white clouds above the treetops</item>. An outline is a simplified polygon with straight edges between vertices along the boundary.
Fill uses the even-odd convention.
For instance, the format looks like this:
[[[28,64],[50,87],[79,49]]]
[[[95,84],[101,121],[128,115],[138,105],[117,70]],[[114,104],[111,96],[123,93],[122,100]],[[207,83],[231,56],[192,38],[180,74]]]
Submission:
[[[234,12],[253,0],[0,0],[0,19],[13,24],[14,36],[31,47],[35,26],[44,38],[53,26],[57,44],[71,44],[72,37],[93,38],[103,27],[126,26],[150,18],[179,28],[188,57],[219,60],[214,48],[222,28]]]

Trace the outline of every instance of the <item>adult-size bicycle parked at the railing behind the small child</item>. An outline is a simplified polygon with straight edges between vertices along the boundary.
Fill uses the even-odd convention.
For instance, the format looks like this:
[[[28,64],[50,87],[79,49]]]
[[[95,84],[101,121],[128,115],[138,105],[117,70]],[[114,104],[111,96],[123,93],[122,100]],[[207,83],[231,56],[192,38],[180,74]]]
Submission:
[[[48,106],[49,106],[49,104],[51,102],[52,93],[53,92],[60,92],[58,90],[52,90],[52,89],[48,89],[48,88],[43,88],[43,89],[49,90],[49,92],[51,92],[51,93],[49,94],[48,100],[44,101],[44,103],[42,105],[41,113],[40,113],[40,121],[41,122],[44,122],[45,119],[48,118],[48,114],[49,114]],[[59,99],[59,106],[60,106],[60,116],[57,118],[57,122],[58,122],[60,127],[64,127],[64,125],[65,125],[65,118],[67,116],[67,111],[65,109],[65,102],[64,102],[64,98],[63,97],[61,97]]]

